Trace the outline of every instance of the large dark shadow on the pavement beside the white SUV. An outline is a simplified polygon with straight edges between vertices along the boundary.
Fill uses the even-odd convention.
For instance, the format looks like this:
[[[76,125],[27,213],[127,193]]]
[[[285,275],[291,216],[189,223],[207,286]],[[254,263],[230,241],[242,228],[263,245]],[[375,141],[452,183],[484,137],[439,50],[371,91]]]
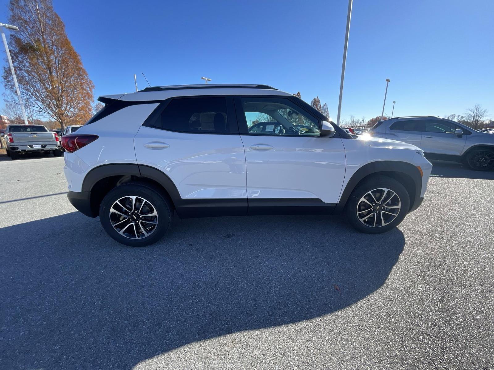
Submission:
[[[78,212],[0,229],[4,369],[130,369],[191,342],[327,315],[370,295],[399,229],[337,217],[179,220],[144,248]]]

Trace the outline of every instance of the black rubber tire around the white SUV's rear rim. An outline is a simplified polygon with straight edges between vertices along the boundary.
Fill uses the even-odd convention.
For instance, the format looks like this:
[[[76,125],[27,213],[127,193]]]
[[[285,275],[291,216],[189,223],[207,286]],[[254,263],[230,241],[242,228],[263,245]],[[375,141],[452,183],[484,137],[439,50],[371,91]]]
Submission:
[[[150,202],[153,208],[156,210],[158,224],[155,226],[155,228],[153,229],[153,231],[150,233],[149,236],[142,236],[139,237],[138,239],[133,239],[120,234],[113,227],[112,220],[110,218],[111,217],[110,209],[117,200],[127,196],[137,196],[141,199],[145,199],[148,203]],[[138,208],[137,201],[135,205],[136,207],[134,208]],[[123,209],[120,210],[123,211]],[[129,211],[128,209],[126,210],[127,212]],[[117,215],[117,217],[120,216]],[[132,217],[134,217],[134,215],[131,215],[129,220],[132,220]],[[110,190],[108,194],[105,195],[99,207],[99,219],[101,225],[108,233],[108,235],[110,235],[113,239],[115,239],[119,243],[131,247],[144,247],[156,243],[165,235],[166,231],[168,231],[168,228],[170,227],[170,223],[171,223],[171,205],[168,203],[168,200],[163,196],[161,191],[155,188],[154,186],[148,184],[142,184],[142,183],[127,183],[115,187],[114,189]],[[138,221],[138,219],[136,220]],[[124,225],[126,225],[126,223],[131,223],[131,222],[124,222]],[[132,228],[129,228],[129,230],[132,232]],[[124,231],[124,230],[121,229],[120,231]],[[136,234],[134,232],[134,234],[131,236],[135,236],[135,235]],[[140,233],[140,235],[143,235],[142,232]]]

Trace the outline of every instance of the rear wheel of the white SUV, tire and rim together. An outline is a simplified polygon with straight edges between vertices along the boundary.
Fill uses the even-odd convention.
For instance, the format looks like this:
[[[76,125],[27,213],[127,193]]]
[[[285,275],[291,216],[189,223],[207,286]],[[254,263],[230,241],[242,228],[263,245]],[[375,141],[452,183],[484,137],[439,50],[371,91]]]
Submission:
[[[165,235],[171,223],[171,207],[153,186],[127,183],[105,195],[99,219],[108,235],[119,243],[144,247]]]

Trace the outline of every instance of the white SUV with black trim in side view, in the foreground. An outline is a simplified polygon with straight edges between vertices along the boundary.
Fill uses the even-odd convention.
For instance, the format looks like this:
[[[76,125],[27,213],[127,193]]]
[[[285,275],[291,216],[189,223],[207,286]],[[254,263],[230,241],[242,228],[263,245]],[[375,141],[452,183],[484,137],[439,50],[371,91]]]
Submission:
[[[380,233],[422,202],[421,149],[354,139],[292,94],[266,85],[183,85],[102,96],[62,137],[69,200],[130,246],[179,217],[344,212]]]

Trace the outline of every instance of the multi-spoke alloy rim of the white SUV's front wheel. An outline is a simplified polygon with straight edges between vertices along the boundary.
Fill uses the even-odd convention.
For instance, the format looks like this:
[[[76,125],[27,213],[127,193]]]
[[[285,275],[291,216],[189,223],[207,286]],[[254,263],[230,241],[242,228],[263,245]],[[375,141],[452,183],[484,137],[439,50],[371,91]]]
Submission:
[[[401,210],[398,194],[390,189],[377,188],[360,198],[357,218],[366,226],[381,227],[393,222]]]

